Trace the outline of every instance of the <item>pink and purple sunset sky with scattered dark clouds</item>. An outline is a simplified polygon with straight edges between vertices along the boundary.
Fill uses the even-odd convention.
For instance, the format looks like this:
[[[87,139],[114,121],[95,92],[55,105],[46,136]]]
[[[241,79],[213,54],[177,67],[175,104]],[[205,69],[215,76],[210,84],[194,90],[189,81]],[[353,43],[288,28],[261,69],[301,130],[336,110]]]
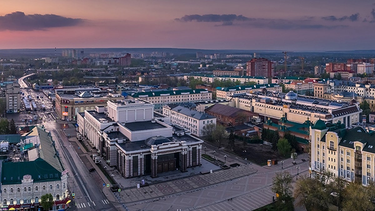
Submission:
[[[375,0],[1,0],[0,49],[374,50]]]

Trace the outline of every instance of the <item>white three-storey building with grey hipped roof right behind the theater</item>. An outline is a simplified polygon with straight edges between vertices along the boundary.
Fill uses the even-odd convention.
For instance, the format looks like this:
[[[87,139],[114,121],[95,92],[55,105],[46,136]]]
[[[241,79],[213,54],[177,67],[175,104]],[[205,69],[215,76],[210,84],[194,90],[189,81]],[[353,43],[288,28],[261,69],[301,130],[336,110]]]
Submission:
[[[170,118],[171,124],[187,129],[191,134],[198,137],[204,136],[205,125],[216,124],[216,117],[181,105],[164,105],[163,115]]]

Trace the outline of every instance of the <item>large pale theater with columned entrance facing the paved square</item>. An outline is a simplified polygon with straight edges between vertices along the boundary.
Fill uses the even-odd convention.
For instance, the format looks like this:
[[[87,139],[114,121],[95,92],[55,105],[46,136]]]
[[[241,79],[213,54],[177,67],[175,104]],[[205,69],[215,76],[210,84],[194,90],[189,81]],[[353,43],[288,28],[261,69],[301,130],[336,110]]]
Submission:
[[[110,100],[107,108],[78,113],[78,130],[126,178],[201,165],[203,141],[153,114],[154,105],[147,101]]]

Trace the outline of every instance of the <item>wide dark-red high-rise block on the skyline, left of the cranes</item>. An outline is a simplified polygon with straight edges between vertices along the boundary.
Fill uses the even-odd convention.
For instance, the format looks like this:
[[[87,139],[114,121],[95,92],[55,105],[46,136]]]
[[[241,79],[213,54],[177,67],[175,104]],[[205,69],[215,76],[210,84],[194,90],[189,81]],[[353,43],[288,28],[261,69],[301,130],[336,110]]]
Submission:
[[[273,77],[274,71],[272,69],[272,64],[273,62],[268,59],[254,58],[246,63],[246,75]]]

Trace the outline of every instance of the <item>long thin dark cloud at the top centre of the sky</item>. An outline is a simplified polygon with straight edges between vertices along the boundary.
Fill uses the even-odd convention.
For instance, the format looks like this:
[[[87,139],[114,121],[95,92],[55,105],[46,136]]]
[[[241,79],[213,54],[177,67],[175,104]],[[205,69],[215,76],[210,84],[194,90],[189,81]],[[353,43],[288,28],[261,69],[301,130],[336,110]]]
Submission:
[[[175,21],[181,22],[224,22],[229,23],[232,21],[248,21],[251,18],[245,17],[243,15],[235,15],[235,14],[224,14],[224,15],[216,15],[216,14],[207,14],[207,15],[185,15],[182,18],[176,18]]]

